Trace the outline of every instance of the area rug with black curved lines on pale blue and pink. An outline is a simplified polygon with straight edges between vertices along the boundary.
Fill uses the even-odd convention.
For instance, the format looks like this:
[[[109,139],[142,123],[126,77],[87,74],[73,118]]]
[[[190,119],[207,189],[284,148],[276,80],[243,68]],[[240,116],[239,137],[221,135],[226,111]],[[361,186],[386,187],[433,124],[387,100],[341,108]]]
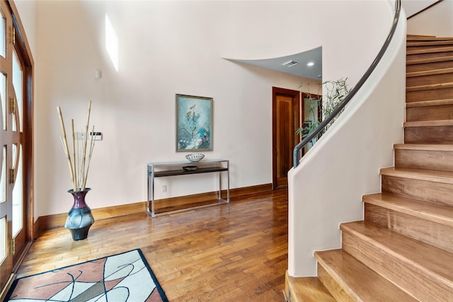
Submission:
[[[5,301],[166,302],[141,250],[16,279]]]

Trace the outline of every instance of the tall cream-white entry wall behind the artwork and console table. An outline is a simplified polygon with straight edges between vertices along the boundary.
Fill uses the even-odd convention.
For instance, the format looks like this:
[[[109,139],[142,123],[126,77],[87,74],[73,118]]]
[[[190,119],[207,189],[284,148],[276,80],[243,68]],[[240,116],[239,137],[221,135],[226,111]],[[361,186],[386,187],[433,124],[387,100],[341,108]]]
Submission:
[[[205,153],[206,158],[231,160],[231,187],[270,183],[272,86],[295,89],[306,79],[222,57],[280,57],[322,45],[323,79],[348,76],[352,86],[389,30],[382,19],[389,8],[382,1],[33,5],[35,25],[24,24],[39,41],[34,54],[35,218],[67,212],[71,205],[58,105],[67,122],[74,118],[80,129],[88,100],[93,100],[91,121],[103,132],[103,141],[96,144],[88,176],[92,208],[146,200],[146,164],[184,159],[185,153],[175,152],[176,93],[214,98],[214,151]],[[348,13],[357,19],[344,18]],[[118,71],[105,51],[106,14],[118,37]],[[102,79],[94,79],[96,69]],[[161,197],[198,192],[205,185],[168,182],[168,193]]]

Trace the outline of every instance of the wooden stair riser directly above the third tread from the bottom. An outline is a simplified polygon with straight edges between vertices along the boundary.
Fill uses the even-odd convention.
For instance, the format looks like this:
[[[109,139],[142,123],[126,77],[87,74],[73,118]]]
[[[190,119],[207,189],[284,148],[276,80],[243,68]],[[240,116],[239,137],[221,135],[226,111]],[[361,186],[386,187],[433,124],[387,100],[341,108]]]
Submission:
[[[365,204],[365,220],[423,243],[453,252],[453,228],[451,226],[420,219],[374,204]]]

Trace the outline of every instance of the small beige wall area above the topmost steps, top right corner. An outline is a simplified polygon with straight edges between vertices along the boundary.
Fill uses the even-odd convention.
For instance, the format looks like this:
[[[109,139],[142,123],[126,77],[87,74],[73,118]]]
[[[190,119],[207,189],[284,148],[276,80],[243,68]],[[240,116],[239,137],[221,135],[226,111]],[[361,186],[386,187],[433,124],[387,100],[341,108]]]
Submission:
[[[453,0],[441,1],[409,18],[408,34],[453,37]]]

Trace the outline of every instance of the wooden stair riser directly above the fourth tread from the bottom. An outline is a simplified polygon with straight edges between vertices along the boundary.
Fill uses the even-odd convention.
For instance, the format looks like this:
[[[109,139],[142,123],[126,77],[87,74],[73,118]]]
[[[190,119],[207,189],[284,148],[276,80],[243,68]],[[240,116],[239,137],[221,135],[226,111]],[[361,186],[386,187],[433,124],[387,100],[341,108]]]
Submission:
[[[453,185],[382,175],[382,192],[453,206]]]

